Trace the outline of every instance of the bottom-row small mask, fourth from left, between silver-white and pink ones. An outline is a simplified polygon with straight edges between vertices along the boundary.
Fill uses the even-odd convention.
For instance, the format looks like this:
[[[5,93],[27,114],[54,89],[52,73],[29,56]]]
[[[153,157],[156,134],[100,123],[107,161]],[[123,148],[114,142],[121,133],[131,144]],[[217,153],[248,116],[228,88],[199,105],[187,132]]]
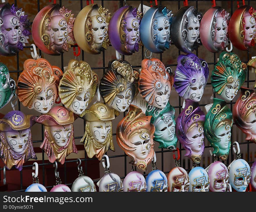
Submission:
[[[99,182],[97,182],[97,186],[99,186],[99,191],[105,192],[119,192],[123,191],[123,183],[120,177],[115,173],[105,174]]]

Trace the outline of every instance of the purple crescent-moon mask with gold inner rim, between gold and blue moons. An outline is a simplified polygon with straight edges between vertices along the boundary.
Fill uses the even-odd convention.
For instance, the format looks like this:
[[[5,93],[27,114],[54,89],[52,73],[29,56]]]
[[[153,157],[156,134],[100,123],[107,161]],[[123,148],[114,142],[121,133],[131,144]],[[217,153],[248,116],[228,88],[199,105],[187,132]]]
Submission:
[[[124,6],[119,8],[109,22],[109,40],[121,54],[131,55],[139,51],[141,15],[136,8]]]

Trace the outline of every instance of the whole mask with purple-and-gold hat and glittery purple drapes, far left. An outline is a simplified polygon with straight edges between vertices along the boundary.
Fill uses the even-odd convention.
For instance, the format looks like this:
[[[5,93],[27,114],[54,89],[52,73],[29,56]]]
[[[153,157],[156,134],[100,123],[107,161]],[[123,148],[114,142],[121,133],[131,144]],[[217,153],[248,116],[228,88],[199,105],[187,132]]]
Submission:
[[[37,159],[30,131],[35,123],[33,118],[14,110],[0,119],[0,156],[7,169],[15,166],[21,171],[26,161]]]

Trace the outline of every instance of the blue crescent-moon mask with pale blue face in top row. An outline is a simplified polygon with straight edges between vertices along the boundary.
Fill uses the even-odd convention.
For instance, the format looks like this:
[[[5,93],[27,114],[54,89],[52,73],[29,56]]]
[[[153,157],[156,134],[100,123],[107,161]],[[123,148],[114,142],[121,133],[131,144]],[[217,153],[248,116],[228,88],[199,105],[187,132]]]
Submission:
[[[153,53],[163,53],[169,49],[172,17],[172,11],[161,5],[147,10],[140,24],[141,41],[145,48]]]

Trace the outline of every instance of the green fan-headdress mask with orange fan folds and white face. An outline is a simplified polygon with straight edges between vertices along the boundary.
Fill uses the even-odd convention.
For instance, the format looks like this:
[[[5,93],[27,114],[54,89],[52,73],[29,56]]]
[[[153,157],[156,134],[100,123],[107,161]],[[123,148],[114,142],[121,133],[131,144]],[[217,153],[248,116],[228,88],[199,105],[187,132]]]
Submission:
[[[214,92],[223,100],[232,101],[246,78],[247,66],[234,53],[222,52],[211,74]]]

